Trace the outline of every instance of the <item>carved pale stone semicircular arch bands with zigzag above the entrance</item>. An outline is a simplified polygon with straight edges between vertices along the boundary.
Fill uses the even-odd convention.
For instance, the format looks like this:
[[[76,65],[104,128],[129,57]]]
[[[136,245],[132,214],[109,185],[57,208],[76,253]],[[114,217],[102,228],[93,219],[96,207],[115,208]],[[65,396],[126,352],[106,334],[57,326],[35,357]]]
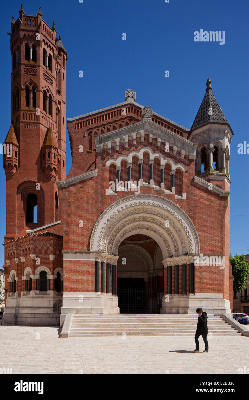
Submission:
[[[106,208],[98,218],[92,230],[90,251],[102,250],[109,254],[112,254],[112,252],[116,252],[115,254],[117,254],[117,246],[121,243],[118,243],[118,240],[122,241],[122,238],[124,238],[127,233],[137,229],[133,226],[129,227],[129,225],[135,221],[135,218],[139,223],[145,222],[146,228],[143,229],[148,230],[149,236],[149,231],[153,232],[153,229],[150,224],[146,224],[146,222],[148,222],[147,216],[141,216],[141,214],[152,214],[154,216],[153,223],[156,222],[158,225],[158,231],[160,231],[162,235],[161,239],[165,244],[164,253],[167,253],[168,256],[173,254],[173,252],[175,253],[174,256],[179,256],[181,255],[179,251],[193,254],[200,253],[199,237],[189,216],[187,216],[176,203],[153,194],[134,194],[126,196]],[[133,218],[127,218],[130,216],[133,216]],[[162,222],[156,217],[161,218],[163,221],[168,220],[169,227],[161,226]],[[121,220],[123,221],[123,225],[119,227]],[[124,230],[125,225],[128,231]],[[114,234],[115,226],[117,226],[116,234]],[[120,228],[121,230],[123,229],[123,231],[119,234]],[[165,232],[164,235],[162,229]],[[157,235],[159,234],[158,231],[156,232]],[[124,232],[126,233],[124,234]],[[117,236],[117,234],[118,238],[115,239],[115,235]],[[167,235],[173,243],[174,250],[170,248]],[[181,249],[179,249],[179,244]],[[115,251],[112,250],[110,252],[111,248]],[[161,250],[163,251],[163,249]]]

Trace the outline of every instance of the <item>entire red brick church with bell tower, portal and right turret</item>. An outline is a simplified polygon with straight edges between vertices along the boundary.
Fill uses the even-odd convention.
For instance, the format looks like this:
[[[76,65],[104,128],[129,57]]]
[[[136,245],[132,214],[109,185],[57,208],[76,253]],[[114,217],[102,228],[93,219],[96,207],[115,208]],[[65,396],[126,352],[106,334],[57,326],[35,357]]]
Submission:
[[[5,323],[58,326],[66,314],[197,306],[231,312],[233,132],[210,79],[191,129],[138,104],[133,90],[66,120],[68,57],[55,24],[22,6],[11,27]],[[140,289],[141,308],[135,301],[127,310],[127,292]]]

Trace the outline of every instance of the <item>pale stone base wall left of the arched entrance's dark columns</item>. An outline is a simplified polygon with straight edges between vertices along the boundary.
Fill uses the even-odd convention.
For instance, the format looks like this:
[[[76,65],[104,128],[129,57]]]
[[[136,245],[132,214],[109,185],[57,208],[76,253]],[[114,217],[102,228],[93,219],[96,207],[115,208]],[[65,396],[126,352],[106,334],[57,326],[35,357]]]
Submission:
[[[66,314],[119,314],[118,296],[95,292],[64,292],[60,323]]]

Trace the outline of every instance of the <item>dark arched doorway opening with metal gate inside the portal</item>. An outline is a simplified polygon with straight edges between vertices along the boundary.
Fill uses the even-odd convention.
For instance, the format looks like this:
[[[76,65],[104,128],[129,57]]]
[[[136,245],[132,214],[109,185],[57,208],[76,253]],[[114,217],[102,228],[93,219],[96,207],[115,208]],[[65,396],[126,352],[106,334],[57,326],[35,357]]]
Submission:
[[[146,235],[131,235],[120,244],[117,293],[120,313],[159,313],[164,294],[162,252]]]

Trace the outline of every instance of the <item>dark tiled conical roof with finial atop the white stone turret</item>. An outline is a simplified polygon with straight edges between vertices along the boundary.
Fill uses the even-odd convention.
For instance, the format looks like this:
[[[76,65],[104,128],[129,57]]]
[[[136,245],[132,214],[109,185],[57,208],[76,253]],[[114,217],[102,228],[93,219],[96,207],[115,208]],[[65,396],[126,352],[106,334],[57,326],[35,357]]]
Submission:
[[[223,114],[219,103],[217,102],[211,88],[211,79],[207,80],[207,89],[205,96],[201,102],[201,106],[197,112],[191,130],[199,128],[200,126],[206,125],[209,122],[221,122],[227,123],[227,118]]]

